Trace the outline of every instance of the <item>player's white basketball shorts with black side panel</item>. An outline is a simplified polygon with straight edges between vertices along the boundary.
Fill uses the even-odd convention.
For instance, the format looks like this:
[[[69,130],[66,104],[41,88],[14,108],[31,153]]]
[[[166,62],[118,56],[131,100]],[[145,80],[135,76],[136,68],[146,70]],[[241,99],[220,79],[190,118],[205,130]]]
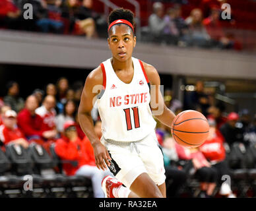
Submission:
[[[141,173],[148,173],[156,185],[164,183],[164,158],[155,131],[137,142],[116,142],[103,136],[101,142],[112,158],[110,171],[127,188]]]

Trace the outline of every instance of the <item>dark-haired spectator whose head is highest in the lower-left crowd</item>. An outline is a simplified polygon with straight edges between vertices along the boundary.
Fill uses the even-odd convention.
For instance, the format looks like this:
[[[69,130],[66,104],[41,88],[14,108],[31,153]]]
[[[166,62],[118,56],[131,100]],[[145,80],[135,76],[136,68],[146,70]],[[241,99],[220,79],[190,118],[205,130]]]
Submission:
[[[65,77],[61,77],[57,80],[57,109],[58,113],[63,113],[63,105],[67,102],[67,90],[69,89],[69,80]]]

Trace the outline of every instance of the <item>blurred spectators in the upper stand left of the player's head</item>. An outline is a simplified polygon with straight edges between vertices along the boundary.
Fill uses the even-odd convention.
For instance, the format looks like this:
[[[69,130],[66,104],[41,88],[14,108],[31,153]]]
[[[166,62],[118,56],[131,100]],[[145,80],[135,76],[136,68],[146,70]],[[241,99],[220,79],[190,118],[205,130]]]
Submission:
[[[32,11],[30,7],[24,9],[27,3]],[[25,11],[32,19],[24,18]],[[106,27],[106,20],[92,10],[92,0],[0,1],[0,28],[97,38],[105,36]]]

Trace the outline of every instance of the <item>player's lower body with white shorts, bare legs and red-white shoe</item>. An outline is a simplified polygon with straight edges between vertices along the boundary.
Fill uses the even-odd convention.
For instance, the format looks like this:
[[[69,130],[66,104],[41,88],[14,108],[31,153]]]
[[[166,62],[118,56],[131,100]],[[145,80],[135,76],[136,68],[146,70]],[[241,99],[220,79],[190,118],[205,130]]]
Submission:
[[[148,138],[152,139],[154,137],[149,136]],[[164,175],[162,152],[156,142],[152,142],[148,146],[148,138],[141,141],[141,146],[137,145],[135,149],[132,149],[130,146],[107,144],[106,147],[112,158],[110,170],[118,179],[117,181],[110,178],[103,181],[102,188],[106,190],[104,192],[108,196],[118,197],[119,194],[115,195],[115,190],[124,190],[120,186],[122,183],[127,187],[126,190],[131,190],[131,193],[126,193],[125,196],[127,197],[162,198],[166,196],[164,183],[166,177]],[[154,158],[152,158],[152,154],[154,154]],[[123,194],[120,195],[124,197]]]

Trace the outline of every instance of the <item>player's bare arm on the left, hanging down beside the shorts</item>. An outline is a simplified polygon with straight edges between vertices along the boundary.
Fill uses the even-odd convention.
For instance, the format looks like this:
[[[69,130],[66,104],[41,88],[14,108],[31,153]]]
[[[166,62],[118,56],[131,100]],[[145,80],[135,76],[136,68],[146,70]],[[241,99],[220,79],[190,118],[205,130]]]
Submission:
[[[110,166],[111,160],[110,155],[108,154],[108,150],[106,150],[105,146],[100,142],[100,139],[94,132],[94,124],[92,121],[92,117],[90,115],[92,111],[92,107],[94,104],[94,99],[100,93],[100,89],[96,88],[98,92],[94,89],[96,86],[103,84],[103,75],[101,67],[97,67],[94,69],[86,78],[84,89],[82,90],[82,95],[80,98],[79,105],[79,123],[82,131],[84,131],[85,135],[90,140],[92,147],[94,149],[95,163],[99,169],[106,169],[107,166]],[[104,163],[106,162],[106,164]]]

